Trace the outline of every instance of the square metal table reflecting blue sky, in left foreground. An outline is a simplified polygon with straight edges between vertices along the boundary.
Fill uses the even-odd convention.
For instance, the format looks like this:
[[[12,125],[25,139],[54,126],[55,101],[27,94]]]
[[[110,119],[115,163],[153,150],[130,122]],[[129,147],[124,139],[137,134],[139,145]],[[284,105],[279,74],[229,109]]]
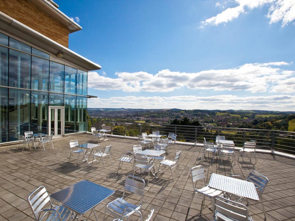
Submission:
[[[73,220],[76,220],[78,215],[83,215],[91,210],[91,213],[86,220],[88,220],[90,215],[94,213],[94,216],[98,221],[94,208],[99,203],[114,194],[114,192],[115,191],[112,189],[102,187],[101,185],[95,184],[88,180],[82,180],[76,184],[66,187],[65,189],[51,194],[50,198],[58,201],[74,212]]]

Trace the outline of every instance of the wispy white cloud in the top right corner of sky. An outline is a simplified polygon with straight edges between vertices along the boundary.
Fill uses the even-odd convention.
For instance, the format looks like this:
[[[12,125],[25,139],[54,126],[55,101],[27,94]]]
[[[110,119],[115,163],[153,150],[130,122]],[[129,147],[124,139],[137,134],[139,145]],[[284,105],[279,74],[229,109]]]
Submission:
[[[295,0],[235,0],[235,7],[227,8],[221,13],[201,22],[201,28],[205,25],[219,25],[232,21],[240,16],[240,14],[248,13],[248,10],[268,5],[267,18],[269,23],[277,23],[282,21],[282,26],[287,25],[295,20]],[[224,6],[217,2],[215,6]]]

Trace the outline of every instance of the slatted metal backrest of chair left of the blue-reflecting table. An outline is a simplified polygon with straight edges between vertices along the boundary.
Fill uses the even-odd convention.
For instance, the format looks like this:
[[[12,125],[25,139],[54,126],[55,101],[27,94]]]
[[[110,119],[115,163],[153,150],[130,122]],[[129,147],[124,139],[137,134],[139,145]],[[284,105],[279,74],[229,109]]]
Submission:
[[[28,202],[36,220],[38,220],[39,212],[48,204],[48,202],[53,206],[44,186],[35,189],[35,191],[29,195]]]

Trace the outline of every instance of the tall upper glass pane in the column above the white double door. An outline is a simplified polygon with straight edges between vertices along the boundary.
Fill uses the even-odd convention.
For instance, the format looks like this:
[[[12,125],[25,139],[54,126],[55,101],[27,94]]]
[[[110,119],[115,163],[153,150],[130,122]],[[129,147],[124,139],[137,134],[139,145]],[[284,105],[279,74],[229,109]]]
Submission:
[[[65,66],[50,62],[50,91],[63,93]]]

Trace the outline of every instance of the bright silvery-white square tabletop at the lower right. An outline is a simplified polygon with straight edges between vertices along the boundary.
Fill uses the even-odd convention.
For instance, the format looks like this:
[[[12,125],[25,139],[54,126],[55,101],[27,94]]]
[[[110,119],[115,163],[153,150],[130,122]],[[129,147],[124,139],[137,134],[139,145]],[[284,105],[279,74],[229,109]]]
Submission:
[[[226,177],[219,174],[212,174],[209,187],[223,192],[234,194],[248,199],[259,200],[255,185],[252,182]]]

